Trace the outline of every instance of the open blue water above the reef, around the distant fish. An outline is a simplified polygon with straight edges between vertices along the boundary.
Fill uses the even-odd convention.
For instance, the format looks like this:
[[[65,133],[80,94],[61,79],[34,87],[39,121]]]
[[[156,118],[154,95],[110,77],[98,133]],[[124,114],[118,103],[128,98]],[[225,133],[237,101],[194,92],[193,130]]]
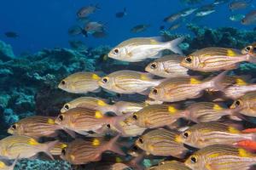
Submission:
[[[205,0],[202,4],[212,3]],[[70,37],[67,30],[76,24],[79,8],[98,3],[100,10],[90,15],[90,20],[106,23],[108,37]],[[253,2],[256,6],[256,1]],[[191,6],[191,5],[190,5]],[[42,48],[68,48],[68,40],[82,40],[88,47],[98,45],[116,45],[129,37],[152,37],[159,35],[163,19],[177,11],[190,7],[179,0],[2,0],[0,5],[0,39],[12,45],[15,54],[35,53]],[[118,19],[115,13],[127,8],[127,15]],[[200,26],[212,28],[234,26],[251,30],[254,26],[242,26],[229,20],[230,14],[247,14],[253,7],[231,12],[228,3],[218,6],[217,12],[200,20]],[[255,9],[255,8],[254,8]],[[177,33],[188,33],[185,25],[193,16],[189,16]],[[131,27],[137,24],[150,24],[148,31],[131,33]],[[165,24],[169,27],[170,24]],[[6,31],[15,31],[20,37],[13,39],[4,36]]]

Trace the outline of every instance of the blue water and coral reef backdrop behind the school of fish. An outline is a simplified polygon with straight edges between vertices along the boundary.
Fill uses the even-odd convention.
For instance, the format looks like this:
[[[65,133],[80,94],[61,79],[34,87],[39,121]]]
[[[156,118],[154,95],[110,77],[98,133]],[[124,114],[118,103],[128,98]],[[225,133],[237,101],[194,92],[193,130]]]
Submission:
[[[195,13],[171,23],[164,19],[184,8],[201,8],[213,0],[6,0],[0,5],[0,139],[9,134],[6,129],[27,116],[57,116],[63,104],[83,94],[68,94],[58,88],[64,77],[78,71],[100,71],[104,74],[119,70],[144,71],[148,61],[125,63],[106,59],[108,52],[131,37],[158,37],[167,40],[185,37],[184,54],[206,47],[244,48],[256,42],[256,24],[242,25],[230,20],[233,15],[245,15],[256,10],[256,1],[247,8],[230,10],[232,1],[214,6],[214,12],[202,17]],[[104,35],[85,35],[81,30],[89,21],[79,20],[79,8],[98,5],[90,21],[104,25]],[[117,17],[116,14],[125,14]],[[85,23],[85,24],[84,24]],[[177,28],[168,30],[178,24]],[[143,25],[143,31],[133,32]],[[256,65],[243,63],[235,71],[254,77]],[[116,94],[100,92],[88,96],[116,99]],[[137,101],[141,96],[121,96]],[[44,160],[44,161],[42,161]],[[20,160],[16,169],[71,169],[66,161]]]

